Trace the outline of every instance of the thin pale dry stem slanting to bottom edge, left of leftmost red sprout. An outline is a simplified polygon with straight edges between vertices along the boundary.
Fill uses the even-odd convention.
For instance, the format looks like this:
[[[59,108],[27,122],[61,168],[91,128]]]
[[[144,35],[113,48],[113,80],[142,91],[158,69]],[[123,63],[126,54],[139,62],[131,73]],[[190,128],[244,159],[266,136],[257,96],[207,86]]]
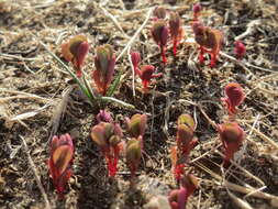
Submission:
[[[52,207],[51,207],[49,200],[48,200],[47,195],[46,195],[46,193],[45,193],[45,190],[44,190],[44,187],[43,187],[43,185],[42,185],[42,183],[41,183],[41,180],[40,180],[40,176],[38,176],[38,174],[37,174],[37,169],[36,169],[36,167],[35,167],[35,164],[34,164],[34,162],[33,162],[33,160],[32,160],[32,157],[31,157],[31,155],[30,155],[30,153],[29,153],[27,144],[26,144],[26,142],[25,142],[25,140],[24,140],[23,136],[20,135],[20,138],[21,138],[21,140],[22,140],[22,143],[23,143],[25,153],[26,153],[26,155],[27,155],[27,161],[29,161],[29,163],[30,163],[30,166],[31,166],[31,168],[32,168],[32,170],[33,170],[33,173],[34,173],[36,184],[37,184],[38,189],[40,189],[40,191],[41,191],[41,194],[42,194],[42,196],[43,196],[43,198],[44,198],[45,208],[46,208],[46,209],[51,209]]]

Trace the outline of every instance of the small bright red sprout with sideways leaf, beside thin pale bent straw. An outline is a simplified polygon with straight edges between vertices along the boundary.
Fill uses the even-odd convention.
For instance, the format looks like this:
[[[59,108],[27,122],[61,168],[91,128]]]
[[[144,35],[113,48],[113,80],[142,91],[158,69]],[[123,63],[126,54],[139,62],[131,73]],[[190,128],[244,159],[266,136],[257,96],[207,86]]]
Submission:
[[[158,78],[163,76],[163,74],[162,73],[155,74],[155,67],[153,65],[143,65],[138,67],[138,64],[141,62],[141,56],[140,56],[140,53],[137,52],[131,53],[131,59],[132,59],[132,64],[133,64],[133,68],[135,73],[142,79],[143,90],[147,91],[151,79]]]

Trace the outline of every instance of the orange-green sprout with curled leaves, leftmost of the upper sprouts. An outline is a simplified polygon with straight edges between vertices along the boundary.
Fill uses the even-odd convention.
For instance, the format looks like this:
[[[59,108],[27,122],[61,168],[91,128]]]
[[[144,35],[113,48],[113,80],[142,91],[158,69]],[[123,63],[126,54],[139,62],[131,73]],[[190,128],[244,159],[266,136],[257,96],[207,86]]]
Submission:
[[[77,77],[81,77],[81,67],[89,52],[89,44],[85,35],[76,35],[67,43],[62,44],[62,55],[67,62],[71,62]]]

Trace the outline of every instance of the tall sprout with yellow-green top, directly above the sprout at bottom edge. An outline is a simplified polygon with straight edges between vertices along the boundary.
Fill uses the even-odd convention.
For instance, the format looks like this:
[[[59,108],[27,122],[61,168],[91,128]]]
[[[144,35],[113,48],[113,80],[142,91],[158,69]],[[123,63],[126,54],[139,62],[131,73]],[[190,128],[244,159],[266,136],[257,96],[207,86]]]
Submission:
[[[198,139],[193,135],[194,130],[194,120],[189,114],[181,114],[178,118],[178,129],[176,136],[177,148],[171,148],[174,174],[178,180],[184,174],[184,163],[188,162],[190,151],[198,142]]]

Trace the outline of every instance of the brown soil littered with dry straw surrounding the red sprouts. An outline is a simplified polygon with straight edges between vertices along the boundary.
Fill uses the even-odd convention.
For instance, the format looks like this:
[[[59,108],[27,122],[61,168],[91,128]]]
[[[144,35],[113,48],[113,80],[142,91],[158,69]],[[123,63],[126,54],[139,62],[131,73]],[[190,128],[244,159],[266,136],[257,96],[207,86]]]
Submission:
[[[187,208],[271,209],[278,206],[275,0],[200,1],[203,7],[200,19],[225,36],[223,54],[214,68],[209,67],[209,57],[205,65],[200,65],[197,45],[186,41],[193,38],[190,23],[196,2],[0,0],[0,208],[45,208],[38,184],[51,208],[135,209],[143,208],[152,197],[166,197],[179,187],[171,172],[170,147],[176,144],[176,121],[181,113],[189,113],[198,121],[194,132],[198,144],[190,153],[186,170],[198,177],[199,188],[189,198]],[[119,56],[144,23],[149,9],[160,4],[168,11],[177,11],[184,21],[187,37],[179,44],[177,57],[174,58],[169,42],[168,62],[166,66],[162,64],[159,48],[149,32],[154,21],[151,16],[131,48],[141,53],[143,64],[154,65],[164,76],[153,80],[148,94],[143,94],[141,80],[135,78],[133,96],[131,64],[124,53],[115,66],[115,74],[122,72],[124,76],[114,97],[135,108],[111,102],[104,107],[123,130],[125,117],[148,116],[143,158],[135,186],[131,187],[124,156],[119,162],[118,175],[108,177],[104,158],[90,139],[99,109],[90,106],[73,78],[40,43],[62,58],[60,44],[75,34],[85,34],[90,50],[84,70],[90,75],[94,69],[96,47],[111,44]],[[247,51],[242,63],[235,61],[233,53],[238,36]],[[231,166],[223,173],[219,134],[205,114],[215,123],[227,120],[221,98],[223,87],[231,81],[241,84],[246,94],[236,120],[247,139],[235,157],[240,166]],[[74,139],[75,158],[74,175],[60,200],[46,162],[52,136],[64,133]],[[123,141],[127,141],[125,131],[124,135]],[[224,179],[242,188],[253,187],[258,195],[226,186]]]

